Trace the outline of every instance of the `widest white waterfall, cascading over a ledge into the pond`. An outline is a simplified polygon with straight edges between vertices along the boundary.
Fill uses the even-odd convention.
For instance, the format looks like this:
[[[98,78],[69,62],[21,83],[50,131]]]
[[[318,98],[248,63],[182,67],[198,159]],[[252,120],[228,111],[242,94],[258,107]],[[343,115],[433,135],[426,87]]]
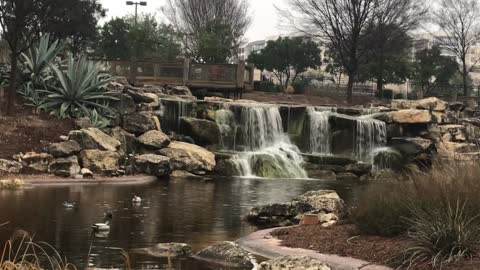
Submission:
[[[235,122],[234,109],[239,109]],[[217,124],[236,127],[240,132],[233,149],[241,149],[232,162],[243,177],[307,178],[301,164],[303,158],[283,130],[279,108],[272,105],[235,104],[230,113],[217,115]],[[221,110],[220,110],[221,111]],[[223,129],[223,128],[221,128]],[[226,130],[227,128],[224,127]],[[222,139],[224,140],[224,139]],[[241,144],[241,145],[239,145]],[[224,146],[225,147],[225,146]],[[230,146],[232,147],[232,146]],[[225,148],[224,148],[225,149]]]

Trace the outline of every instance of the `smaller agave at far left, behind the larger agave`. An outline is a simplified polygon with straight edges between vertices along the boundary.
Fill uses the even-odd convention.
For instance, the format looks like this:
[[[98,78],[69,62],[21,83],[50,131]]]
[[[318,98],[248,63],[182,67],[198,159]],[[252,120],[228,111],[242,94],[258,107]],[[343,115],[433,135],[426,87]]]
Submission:
[[[50,35],[47,34],[26,54],[22,54],[25,72],[35,84],[51,79],[50,65],[62,49],[63,45],[58,40],[50,43]]]

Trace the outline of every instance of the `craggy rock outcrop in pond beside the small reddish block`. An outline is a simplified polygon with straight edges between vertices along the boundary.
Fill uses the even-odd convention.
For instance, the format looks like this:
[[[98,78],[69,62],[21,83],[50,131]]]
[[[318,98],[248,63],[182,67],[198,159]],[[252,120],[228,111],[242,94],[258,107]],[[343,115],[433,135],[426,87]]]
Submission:
[[[345,215],[345,203],[335,191],[319,190],[307,192],[289,203],[275,203],[254,207],[247,219],[254,224],[281,226],[285,221],[297,222],[306,213]]]

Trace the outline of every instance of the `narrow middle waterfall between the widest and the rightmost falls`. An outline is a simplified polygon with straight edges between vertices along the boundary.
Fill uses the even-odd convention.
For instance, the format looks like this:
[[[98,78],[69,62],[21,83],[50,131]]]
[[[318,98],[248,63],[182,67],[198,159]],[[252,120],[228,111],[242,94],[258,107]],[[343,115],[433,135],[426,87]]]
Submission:
[[[325,109],[317,111],[309,107],[307,112],[310,117],[310,152],[312,154],[331,154],[329,123],[331,110]]]

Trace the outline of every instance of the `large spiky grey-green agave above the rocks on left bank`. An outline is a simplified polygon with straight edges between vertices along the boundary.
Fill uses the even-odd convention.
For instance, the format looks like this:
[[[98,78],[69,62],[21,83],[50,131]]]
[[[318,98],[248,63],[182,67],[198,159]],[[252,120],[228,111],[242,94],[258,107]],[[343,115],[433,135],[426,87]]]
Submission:
[[[97,112],[110,111],[109,101],[116,98],[106,91],[112,78],[99,76],[96,63],[85,57],[74,59],[69,57],[65,69],[50,65],[56,83],[48,85],[45,101],[40,106],[47,112],[61,118],[89,116],[92,110]]]

